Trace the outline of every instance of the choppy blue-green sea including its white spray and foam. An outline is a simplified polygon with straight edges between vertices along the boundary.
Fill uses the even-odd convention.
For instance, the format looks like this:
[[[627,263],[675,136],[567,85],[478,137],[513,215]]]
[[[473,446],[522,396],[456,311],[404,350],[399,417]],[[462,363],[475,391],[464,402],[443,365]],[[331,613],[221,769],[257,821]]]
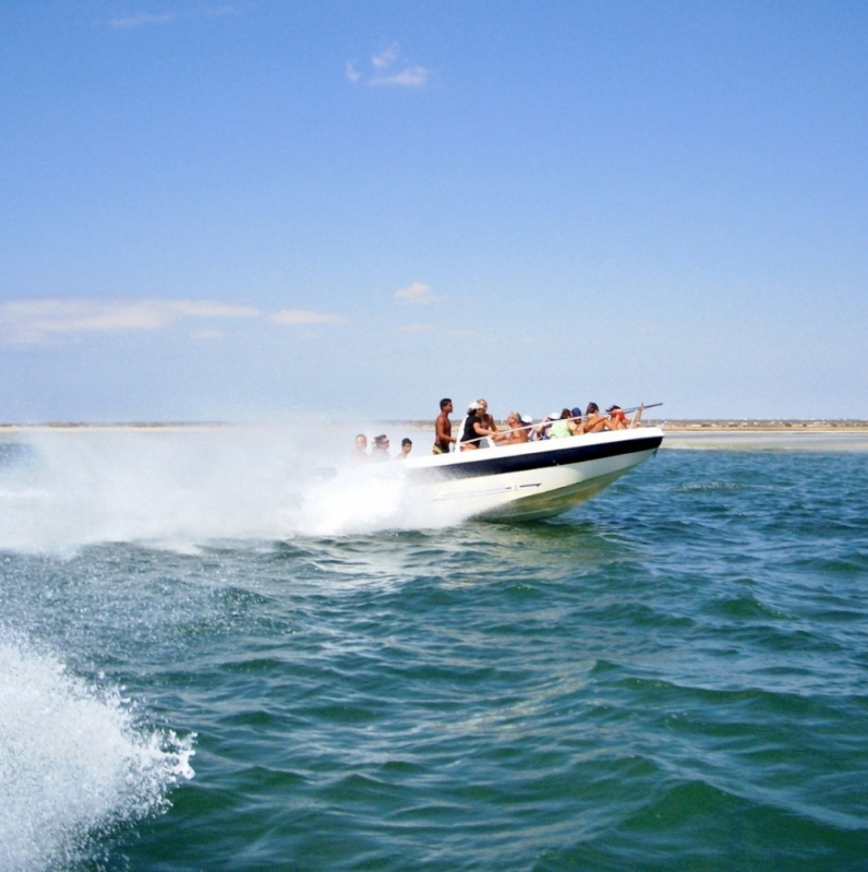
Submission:
[[[864,441],[498,526],[290,437],[0,443],[4,872],[868,869]]]

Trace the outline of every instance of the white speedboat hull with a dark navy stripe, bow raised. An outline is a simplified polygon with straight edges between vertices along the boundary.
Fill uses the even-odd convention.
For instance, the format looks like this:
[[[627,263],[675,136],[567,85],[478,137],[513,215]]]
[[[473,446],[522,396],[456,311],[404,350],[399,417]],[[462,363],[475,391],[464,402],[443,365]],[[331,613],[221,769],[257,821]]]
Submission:
[[[553,517],[599,493],[656,454],[663,430],[606,430],[431,454],[401,463],[426,501],[465,518],[534,521]]]

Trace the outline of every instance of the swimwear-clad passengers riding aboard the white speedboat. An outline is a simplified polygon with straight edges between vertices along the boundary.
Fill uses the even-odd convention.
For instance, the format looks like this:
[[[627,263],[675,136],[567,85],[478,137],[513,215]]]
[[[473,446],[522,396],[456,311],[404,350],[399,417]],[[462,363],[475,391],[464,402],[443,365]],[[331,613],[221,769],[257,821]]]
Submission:
[[[639,427],[644,406],[636,409],[632,418],[628,418],[620,406],[610,406],[605,414],[600,411],[596,403],[589,403],[582,414],[578,406],[564,408],[560,413],[552,413],[534,425],[529,415],[510,411],[506,416],[506,429],[497,427],[489,413],[487,401],[480,398],[468,406],[467,415],[458,427],[460,435],[453,435],[453,422],[449,416],[455,411],[453,401],[441,399],[441,414],[434,422],[434,454],[448,454],[450,451],[474,451],[486,445],[515,445],[522,442],[535,442],[543,439],[564,439],[582,433],[601,433],[603,430],[628,430]],[[410,439],[401,440],[401,450],[395,456],[403,461],[410,454],[413,443]],[[383,433],[374,437],[371,452],[367,451],[367,437],[359,433],[355,447],[350,455],[352,463],[389,459],[389,439]]]

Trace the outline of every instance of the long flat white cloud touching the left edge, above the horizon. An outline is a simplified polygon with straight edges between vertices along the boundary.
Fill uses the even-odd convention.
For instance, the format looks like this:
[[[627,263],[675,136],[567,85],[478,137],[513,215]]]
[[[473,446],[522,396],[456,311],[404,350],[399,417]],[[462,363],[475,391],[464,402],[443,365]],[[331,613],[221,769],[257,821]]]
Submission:
[[[40,345],[77,333],[160,330],[186,318],[253,318],[249,306],[212,300],[17,300],[0,303],[0,341]]]

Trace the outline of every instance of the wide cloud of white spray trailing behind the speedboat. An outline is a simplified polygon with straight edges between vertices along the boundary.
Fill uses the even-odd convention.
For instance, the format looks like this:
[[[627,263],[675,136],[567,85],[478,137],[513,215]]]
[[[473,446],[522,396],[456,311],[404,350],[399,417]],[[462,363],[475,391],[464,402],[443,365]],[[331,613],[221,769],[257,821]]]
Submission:
[[[26,462],[0,469],[0,550],[62,553],[137,541],[189,551],[215,539],[417,529],[459,519],[413,501],[400,464],[377,475],[353,470],[346,466],[351,437],[325,435],[331,444],[311,445],[310,428],[287,427],[39,433],[28,442]],[[341,464],[336,479],[316,475]]]

